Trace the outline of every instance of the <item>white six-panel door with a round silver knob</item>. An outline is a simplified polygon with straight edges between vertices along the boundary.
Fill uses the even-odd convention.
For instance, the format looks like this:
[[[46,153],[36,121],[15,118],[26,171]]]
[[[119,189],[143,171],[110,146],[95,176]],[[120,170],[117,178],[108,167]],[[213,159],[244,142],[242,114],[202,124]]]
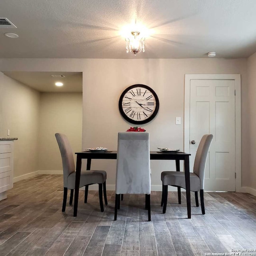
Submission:
[[[206,162],[204,190],[236,189],[234,91],[234,80],[190,80],[191,170],[200,139],[204,134],[214,135]]]

